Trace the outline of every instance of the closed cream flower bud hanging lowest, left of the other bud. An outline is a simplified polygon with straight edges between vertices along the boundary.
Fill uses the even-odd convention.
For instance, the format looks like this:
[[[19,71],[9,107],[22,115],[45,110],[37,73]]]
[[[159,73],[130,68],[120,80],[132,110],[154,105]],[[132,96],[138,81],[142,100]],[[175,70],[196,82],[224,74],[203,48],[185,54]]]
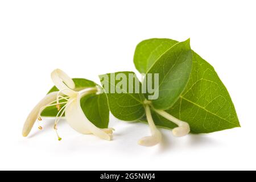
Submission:
[[[151,116],[150,106],[146,105],[145,110],[146,110],[147,122],[148,122],[148,125],[150,126],[152,135],[148,137],[143,137],[138,141],[138,144],[140,144],[141,146],[151,147],[161,142],[162,134],[155,126],[155,123]]]

